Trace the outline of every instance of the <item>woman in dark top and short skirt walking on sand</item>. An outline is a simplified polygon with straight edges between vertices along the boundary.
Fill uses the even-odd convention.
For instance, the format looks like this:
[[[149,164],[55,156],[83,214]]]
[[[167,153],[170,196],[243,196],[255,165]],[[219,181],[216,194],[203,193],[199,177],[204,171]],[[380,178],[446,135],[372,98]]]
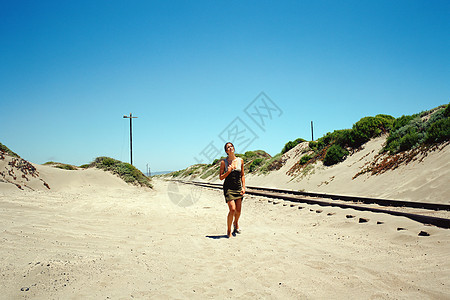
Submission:
[[[224,180],[223,194],[228,204],[227,236],[231,236],[231,224],[234,225],[233,234],[241,233],[239,217],[241,216],[242,199],[245,194],[244,160],[236,157],[234,145],[230,142],[224,146],[228,157],[220,162],[220,180]],[[234,217],[234,222],[233,222]]]

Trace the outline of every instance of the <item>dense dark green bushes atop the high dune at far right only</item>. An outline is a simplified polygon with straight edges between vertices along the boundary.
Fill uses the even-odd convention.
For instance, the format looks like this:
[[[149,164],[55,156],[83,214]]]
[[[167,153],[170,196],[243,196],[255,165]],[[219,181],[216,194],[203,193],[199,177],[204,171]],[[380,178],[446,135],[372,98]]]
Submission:
[[[356,122],[351,129],[328,132],[317,141],[309,142],[309,149],[314,154],[302,156],[298,164],[289,173],[293,174],[317,160],[322,160],[325,166],[337,164],[345,160],[351,152],[360,149],[370,139],[381,134],[388,135],[381,153],[388,153],[391,156],[449,141],[449,110],[448,105],[443,105],[430,111],[412,116],[401,116],[397,119],[389,115],[364,117]],[[414,152],[414,155],[417,155],[417,153],[420,153],[420,151]],[[386,158],[385,160],[389,159]],[[398,162],[409,161],[407,159],[399,160],[398,158],[394,160]],[[386,165],[388,164],[386,163]]]

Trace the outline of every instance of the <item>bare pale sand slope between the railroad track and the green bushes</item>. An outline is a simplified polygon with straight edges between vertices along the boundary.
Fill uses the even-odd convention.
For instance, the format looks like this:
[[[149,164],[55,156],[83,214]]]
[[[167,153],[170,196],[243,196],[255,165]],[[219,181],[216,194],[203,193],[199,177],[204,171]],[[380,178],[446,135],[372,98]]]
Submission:
[[[430,152],[422,161],[412,161],[380,175],[363,174],[353,179],[379,153],[385,137],[372,139],[364,148],[345,161],[326,167],[317,162],[289,176],[286,173],[296,164],[307,143],[287,152],[285,165],[268,175],[247,174],[248,185],[288,188],[311,192],[379,197],[419,202],[450,203],[450,146]],[[214,179],[219,182],[217,179]]]

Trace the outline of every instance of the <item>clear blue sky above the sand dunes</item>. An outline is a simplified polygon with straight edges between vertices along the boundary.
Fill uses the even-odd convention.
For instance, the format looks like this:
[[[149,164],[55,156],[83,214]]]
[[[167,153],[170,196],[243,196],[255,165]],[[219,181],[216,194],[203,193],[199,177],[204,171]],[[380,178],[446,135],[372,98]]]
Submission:
[[[143,171],[205,160],[232,128],[252,132],[237,152],[275,155],[311,121],[318,138],[447,104],[449,15],[447,0],[2,1],[0,142],[34,163],[129,161],[131,112]],[[262,127],[245,113],[261,92],[278,107]]]

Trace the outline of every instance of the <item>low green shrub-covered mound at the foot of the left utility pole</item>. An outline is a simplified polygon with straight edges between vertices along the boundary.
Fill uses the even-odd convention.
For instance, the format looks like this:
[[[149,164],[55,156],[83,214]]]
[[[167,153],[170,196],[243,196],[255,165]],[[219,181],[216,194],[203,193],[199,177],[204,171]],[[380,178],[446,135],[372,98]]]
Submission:
[[[125,182],[151,188],[150,178],[129,163],[124,163],[110,157],[97,157],[90,167],[110,171]]]

